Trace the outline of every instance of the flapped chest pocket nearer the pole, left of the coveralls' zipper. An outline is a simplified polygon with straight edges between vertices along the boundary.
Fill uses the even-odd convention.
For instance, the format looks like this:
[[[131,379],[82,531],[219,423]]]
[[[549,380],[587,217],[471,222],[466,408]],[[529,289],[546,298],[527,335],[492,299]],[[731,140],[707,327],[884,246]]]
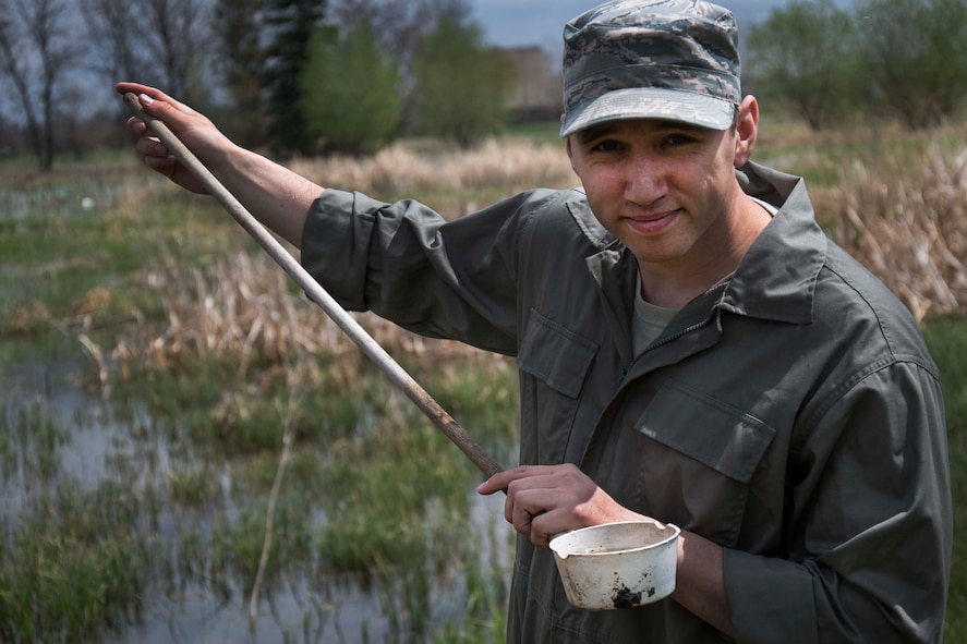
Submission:
[[[517,362],[523,464],[563,462],[597,344],[531,311]]]

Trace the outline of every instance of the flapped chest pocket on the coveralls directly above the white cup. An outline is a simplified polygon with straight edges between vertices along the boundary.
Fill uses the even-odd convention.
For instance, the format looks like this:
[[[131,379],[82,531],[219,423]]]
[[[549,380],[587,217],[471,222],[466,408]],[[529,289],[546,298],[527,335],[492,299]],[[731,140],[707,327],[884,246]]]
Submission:
[[[753,474],[775,429],[681,382],[666,382],[641,414],[644,507],[720,545],[738,538]]]

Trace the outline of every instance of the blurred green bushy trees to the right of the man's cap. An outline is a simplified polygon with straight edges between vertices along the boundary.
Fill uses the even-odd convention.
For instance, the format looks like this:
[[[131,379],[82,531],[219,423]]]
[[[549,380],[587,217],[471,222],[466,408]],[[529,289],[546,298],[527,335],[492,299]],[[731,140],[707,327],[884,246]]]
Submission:
[[[726,0],[727,3],[727,0]],[[813,130],[898,119],[912,130],[963,117],[967,0],[791,0],[751,27],[746,85]]]

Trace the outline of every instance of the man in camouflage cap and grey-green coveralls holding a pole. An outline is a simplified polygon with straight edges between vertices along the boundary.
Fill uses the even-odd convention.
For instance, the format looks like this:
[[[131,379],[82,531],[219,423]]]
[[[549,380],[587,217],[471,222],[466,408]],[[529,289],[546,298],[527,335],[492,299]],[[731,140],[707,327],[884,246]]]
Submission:
[[[582,190],[445,223],[323,190],[135,92],[349,308],[517,356],[512,642],[931,642],[952,515],[936,368],[904,307],[750,161],[729,12],[609,2],[565,28],[561,136]],[[152,168],[201,190],[137,119]],[[546,546],[675,523],[677,587],[569,606]]]

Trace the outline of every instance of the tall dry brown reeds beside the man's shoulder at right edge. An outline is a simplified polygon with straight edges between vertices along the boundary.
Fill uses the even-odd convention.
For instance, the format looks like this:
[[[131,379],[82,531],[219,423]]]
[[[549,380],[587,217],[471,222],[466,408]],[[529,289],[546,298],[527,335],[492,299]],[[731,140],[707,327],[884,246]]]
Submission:
[[[917,319],[967,306],[967,148],[916,163],[882,159],[843,171],[834,239]]]

